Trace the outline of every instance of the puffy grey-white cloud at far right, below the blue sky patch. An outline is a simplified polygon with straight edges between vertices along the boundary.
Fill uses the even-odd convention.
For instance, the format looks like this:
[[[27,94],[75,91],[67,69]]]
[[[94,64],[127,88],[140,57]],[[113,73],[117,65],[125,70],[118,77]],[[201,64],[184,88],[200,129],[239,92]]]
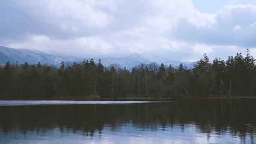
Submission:
[[[183,20],[174,33],[178,39],[192,43],[255,48],[255,15],[254,5],[224,6],[213,13],[216,22],[210,27],[197,28]]]

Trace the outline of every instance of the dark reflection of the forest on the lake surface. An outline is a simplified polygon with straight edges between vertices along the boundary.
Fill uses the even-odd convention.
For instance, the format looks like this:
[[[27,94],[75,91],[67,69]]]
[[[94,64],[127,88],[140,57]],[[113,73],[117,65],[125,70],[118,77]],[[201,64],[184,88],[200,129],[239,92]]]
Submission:
[[[255,137],[256,100],[186,99],[141,104],[1,106],[0,131],[4,135],[39,133],[58,128],[93,137],[104,128],[118,131],[125,125],[141,129],[195,125],[201,132],[229,132]]]

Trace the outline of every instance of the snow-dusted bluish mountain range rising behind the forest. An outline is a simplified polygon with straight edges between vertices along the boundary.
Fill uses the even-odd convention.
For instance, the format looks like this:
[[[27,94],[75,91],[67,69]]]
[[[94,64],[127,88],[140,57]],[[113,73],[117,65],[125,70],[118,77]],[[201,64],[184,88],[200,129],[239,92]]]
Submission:
[[[110,64],[117,64],[121,68],[126,67],[127,69],[131,69],[134,66],[140,64],[149,64],[152,61],[142,58],[137,53],[129,55],[124,58],[79,58],[76,56],[69,56],[63,53],[54,52],[54,51],[38,51],[38,50],[29,50],[29,49],[13,49],[7,48],[5,46],[0,46],[0,64],[5,64],[7,61],[11,63],[19,63],[23,64],[26,61],[29,64],[37,64],[37,62],[41,62],[41,64],[49,64],[59,66],[61,61],[68,62],[72,64],[73,62],[82,62],[83,60],[94,59],[95,62],[98,63],[99,59],[101,59],[102,64],[105,67],[108,67]],[[160,62],[156,62],[160,63]],[[188,68],[192,67],[192,62],[181,62],[181,61],[173,61],[173,60],[165,60],[163,62],[165,65],[173,65],[177,67],[180,63],[185,65]]]

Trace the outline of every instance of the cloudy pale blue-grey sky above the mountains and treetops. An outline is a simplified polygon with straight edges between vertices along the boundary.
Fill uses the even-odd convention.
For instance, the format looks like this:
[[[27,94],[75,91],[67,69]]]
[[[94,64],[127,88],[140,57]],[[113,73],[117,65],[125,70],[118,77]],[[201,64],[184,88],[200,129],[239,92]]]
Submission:
[[[0,45],[83,58],[256,57],[256,0],[0,0]]]

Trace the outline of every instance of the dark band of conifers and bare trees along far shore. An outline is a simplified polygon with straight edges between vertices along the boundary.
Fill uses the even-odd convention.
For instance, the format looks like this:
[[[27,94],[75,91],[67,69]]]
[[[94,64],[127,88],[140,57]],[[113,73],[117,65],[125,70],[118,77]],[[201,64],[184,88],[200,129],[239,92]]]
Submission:
[[[206,54],[189,69],[182,64],[141,64],[131,70],[101,60],[60,67],[41,64],[10,64],[0,67],[0,98],[119,97],[212,97],[255,96],[255,58],[249,49],[225,60],[210,61]]]

